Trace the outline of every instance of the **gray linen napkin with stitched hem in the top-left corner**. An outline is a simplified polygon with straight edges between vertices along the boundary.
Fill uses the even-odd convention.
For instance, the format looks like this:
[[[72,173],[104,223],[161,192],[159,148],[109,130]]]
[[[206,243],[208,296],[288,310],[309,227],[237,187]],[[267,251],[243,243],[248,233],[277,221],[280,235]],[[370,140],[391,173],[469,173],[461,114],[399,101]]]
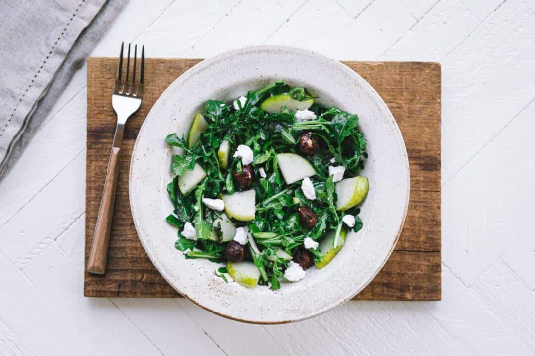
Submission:
[[[126,2],[0,1],[0,178]]]

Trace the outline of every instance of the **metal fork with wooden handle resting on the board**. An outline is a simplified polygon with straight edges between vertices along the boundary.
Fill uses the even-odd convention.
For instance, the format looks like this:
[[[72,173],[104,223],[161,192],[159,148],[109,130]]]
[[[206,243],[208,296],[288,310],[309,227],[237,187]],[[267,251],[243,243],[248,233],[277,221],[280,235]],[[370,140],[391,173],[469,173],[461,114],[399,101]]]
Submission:
[[[143,76],[145,69],[145,48],[141,48],[141,67],[139,81],[136,81],[137,44],[134,46],[134,69],[130,76],[130,46],[128,44],[128,59],[126,61],[126,78],[123,75],[123,52],[125,43],[121,44],[121,54],[119,56],[119,66],[117,76],[113,85],[113,95],[111,104],[117,114],[117,127],[111,149],[108,171],[104,180],[104,190],[100,208],[89,251],[87,261],[87,271],[94,274],[104,274],[106,271],[106,258],[108,257],[108,247],[110,245],[110,229],[113,217],[113,205],[115,203],[115,191],[117,188],[117,176],[119,173],[119,153],[123,145],[123,133],[126,120],[141,106],[143,97]]]

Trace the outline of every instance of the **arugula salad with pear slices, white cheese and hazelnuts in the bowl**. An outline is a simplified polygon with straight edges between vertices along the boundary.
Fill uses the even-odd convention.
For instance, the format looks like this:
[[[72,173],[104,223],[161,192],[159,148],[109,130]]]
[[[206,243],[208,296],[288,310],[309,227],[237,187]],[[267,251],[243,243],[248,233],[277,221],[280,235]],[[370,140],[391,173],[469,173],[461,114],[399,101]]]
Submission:
[[[180,149],[167,185],[177,252],[225,263],[214,268],[225,281],[277,290],[325,267],[361,230],[369,181],[358,116],[315,99],[274,82],[206,101],[187,136],[166,137]]]

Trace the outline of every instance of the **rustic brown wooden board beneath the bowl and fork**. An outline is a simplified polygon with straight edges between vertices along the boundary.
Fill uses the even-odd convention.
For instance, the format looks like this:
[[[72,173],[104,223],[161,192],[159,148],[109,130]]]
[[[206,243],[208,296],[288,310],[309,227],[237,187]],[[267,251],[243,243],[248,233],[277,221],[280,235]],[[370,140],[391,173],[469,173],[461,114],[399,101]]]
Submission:
[[[177,297],[141,246],[128,200],[128,171],[137,132],[156,99],[200,59],[147,59],[143,104],[126,124],[121,170],[104,275],[85,272],[89,297]],[[410,203],[399,242],[383,270],[355,299],[439,300],[440,65],[424,62],[344,62],[385,100],[400,126],[410,164]],[[86,265],[116,124],[111,107],[117,59],[87,65]],[[357,113],[358,114],[358,113]],[[167,132],[162,132],[162,140]],[[167,212],[162,212],[162,218]],[[365,221],[364,221],[365,223]]]

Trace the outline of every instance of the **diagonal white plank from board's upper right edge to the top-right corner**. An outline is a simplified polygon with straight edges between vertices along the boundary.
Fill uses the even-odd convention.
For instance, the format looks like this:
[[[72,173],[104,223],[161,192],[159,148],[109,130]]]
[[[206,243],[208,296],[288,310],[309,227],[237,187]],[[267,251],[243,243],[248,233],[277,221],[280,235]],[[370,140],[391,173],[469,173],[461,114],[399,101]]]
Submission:
[[[510,0],[442,64],[442,177],[450,179],[535,93],[535,16]]]

